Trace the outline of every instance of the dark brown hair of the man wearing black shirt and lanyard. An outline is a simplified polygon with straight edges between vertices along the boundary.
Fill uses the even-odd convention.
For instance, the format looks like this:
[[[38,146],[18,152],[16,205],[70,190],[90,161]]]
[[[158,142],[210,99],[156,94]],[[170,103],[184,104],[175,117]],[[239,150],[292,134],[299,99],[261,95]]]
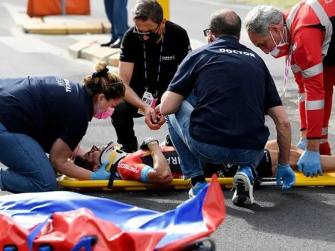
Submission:
[[[151,20],[156,24],[163,21],[163,8],[156,0],[138,0],[131,11],[133,19]]]

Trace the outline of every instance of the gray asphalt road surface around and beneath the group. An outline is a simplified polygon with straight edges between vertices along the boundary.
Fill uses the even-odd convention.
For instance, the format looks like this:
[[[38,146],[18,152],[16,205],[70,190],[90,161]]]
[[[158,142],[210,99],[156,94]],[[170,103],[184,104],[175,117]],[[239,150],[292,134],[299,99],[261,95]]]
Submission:
[[[105,17],[103,1],[91,2],[92,15]],[[128,1],[129,11],[133,3],[134,0]],[[0,0],[0,78],[56,75],[81,81],[84,76],[91,74],[94,66],[92,62],[73,60],[67,55],[68,46],[81,36],[31,36],[21,33],[16,24],[19,23],[19,16],[24,13],[25,6],[26,1],[23,0]],[[244,19],[249,7],[226,4],[223,1],[171,0],[170,17],[172,21],[184,26],[192,39],[205,41],[202,29],[206,28],[210,14],[220,8],[234,9]],[[105,39],[108,40],[108,36]],[[244,33],[241,41],[254,48]],[[260,55],[267,62],[281,91],[284,61]],[[290,88],[292,89],[284,105],[292,123],[292,142],[297,143],[299,123],[297,105],[294,103],[297,93],[293,81]],[[273,123],[268,121],[267,124],[271,130],[270,139],[274,139]],[[167,128],[150,131],[143,119],[138,118],[135,120],[135,131],[139,142],[148,135],[162,142]],[[335,142],[334,135],[331,134],[329,139]],[[110,121],[93,119],[81,146],[88,150],[93,144],[103,145],[110,140],[115,140]],[[293,188],[287,192],[276,187],[255,190],[256,205],[252,208],[232,205],[232,191],[225,190],[224,193],[227,217],[213,235],[218,250],[335,250],[334,188]],[[187,200],[185,190],[89,194],[160,212],[172,210]]]

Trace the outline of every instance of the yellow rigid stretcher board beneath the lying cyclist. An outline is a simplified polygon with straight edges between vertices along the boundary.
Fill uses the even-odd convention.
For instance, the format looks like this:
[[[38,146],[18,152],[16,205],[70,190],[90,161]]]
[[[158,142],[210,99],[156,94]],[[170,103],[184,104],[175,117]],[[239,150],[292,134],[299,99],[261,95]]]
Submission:
[[[217,178],[222,188],[232,188],[233,178]],[[335,186],[335,173],[324,173],[318,178],[306,178],[303,173],[296,172],[296,187],[307,186]],[[207,182],[211,178],[206,179]],[[108,180],[76,180],[63,177],[58,181],[58,185],[72,190],[184,190],[190,188],[190,180],[174,179],[168,185],[154,185],[129,180],[114,180],[113,187],[108,188]],[[276,178],[262,178],[259,185],[277,185]]]

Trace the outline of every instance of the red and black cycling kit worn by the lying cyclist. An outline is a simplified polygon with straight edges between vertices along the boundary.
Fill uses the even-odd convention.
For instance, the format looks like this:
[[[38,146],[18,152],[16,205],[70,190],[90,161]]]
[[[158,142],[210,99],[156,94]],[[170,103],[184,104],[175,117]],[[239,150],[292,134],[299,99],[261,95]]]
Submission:
[[[168,161],[172,173],[172,177],[182,178],[182,170],[180,168],[180,158],[177,151],[172,146],[161,146],[163,155]],[[148,182],[148,178],[143,173],[148,174],[148,169],[153,168],[153,158],[149,150],[138,150],[130,153],[121,159],[116,166],[115,178],[123,180],[137,180]],[[237,165],[210,164],[202,163],[202,170],[206,178],[211,178],[213,174],[217,174],[218,178],[232,178],[237,172]],[[272,163],[269,150],[264,150],[264,157],[256,168],[258,177],[272,176]]]

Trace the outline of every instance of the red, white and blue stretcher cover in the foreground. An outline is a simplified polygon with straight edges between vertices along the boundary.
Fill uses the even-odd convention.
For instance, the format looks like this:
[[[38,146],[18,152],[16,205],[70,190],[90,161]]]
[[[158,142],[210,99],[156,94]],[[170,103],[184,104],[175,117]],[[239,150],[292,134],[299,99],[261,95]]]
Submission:
[[[216,176],[196,198],[168,212],[67,191],[4,195],[0,250],[209,251],[215,250],[210,235],[225,216]],[[202,245],[205,240],[212,246]]]

